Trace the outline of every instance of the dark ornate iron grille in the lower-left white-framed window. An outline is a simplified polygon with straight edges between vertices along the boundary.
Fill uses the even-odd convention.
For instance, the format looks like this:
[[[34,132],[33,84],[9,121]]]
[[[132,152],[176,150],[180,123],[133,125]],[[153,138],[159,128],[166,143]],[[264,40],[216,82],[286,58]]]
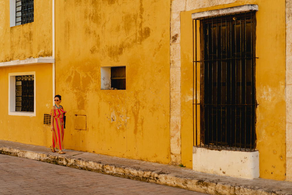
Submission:
[[[34,75],[15,76],[15,111],[34,112]]]

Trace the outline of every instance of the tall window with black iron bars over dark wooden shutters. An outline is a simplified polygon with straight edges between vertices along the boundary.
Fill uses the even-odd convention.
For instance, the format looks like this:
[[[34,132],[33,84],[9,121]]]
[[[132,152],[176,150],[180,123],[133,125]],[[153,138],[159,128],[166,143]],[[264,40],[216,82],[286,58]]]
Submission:
[[[194,145],[254,151],[255,11],[196,18],[193,29]]]

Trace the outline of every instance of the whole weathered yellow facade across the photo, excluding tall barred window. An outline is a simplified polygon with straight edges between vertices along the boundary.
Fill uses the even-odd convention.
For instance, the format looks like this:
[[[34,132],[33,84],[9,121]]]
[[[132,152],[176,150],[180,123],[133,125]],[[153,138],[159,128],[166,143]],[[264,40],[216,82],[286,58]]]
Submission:
[[[289,2],[32,2],[33,19],[18,24],[18,1],[0,0],[1,140],[50,146],[44,114],[60,94],[65,149],[194,168],[193,122],[200,122],[200,110],[197,116],[192,110],[193,32],[200,29],[192,14],[215,10],[220,16],[225,8],[256,5],[256,166],[261,178],[292,181]],[[125,69],[117,76],[126,80],[125,89],[104,87],[115,67]],[[33,76],[32,110],[16,111],[19,97],[23,107],[26,98],[18,95],[18,76]],[[200,93],[199,70],[197,76]]]

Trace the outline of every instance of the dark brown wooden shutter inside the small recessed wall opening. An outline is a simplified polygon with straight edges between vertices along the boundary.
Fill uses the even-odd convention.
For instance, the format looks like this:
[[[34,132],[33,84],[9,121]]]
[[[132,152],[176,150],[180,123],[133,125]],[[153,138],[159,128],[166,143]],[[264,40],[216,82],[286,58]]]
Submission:
[[[126,89],[126,66],[111,67],[111,87]]]

